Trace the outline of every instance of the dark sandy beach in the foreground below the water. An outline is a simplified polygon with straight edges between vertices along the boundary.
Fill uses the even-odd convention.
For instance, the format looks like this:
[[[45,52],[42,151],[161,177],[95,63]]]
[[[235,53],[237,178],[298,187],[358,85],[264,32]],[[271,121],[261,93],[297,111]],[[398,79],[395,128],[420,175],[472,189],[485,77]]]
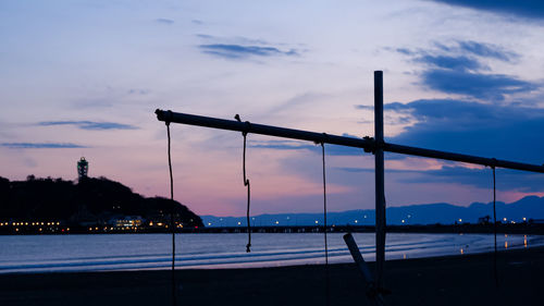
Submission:
[[[544,305],[544,247],[386,261],[386,305]],[[373,271],[373,265],[370,262]],[[355,264],[331,265],[330,305],[370,305]],[[325,305],[324,266],[177,270],[177,305]],[[172,305],[171,271],[0,274],[0,305]]]

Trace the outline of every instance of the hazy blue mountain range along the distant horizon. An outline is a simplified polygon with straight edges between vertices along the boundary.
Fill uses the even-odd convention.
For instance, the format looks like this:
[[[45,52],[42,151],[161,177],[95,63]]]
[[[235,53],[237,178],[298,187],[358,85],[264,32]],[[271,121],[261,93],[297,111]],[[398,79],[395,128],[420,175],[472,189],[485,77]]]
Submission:
[[[544,197],[528,196],[511,204],[496,203],[497,221],[523,222],[544,219]],[[390,207],[386,210],[387,224],[454,224],[477,223],[489,216],[493,221],[493,203],[473,203],[468,207],[447,203]],[[244,227],[246,217],[200,216],[206,227]],[[374,210],[348,210],[329,212],[327,223],[337,225],[373,225]],[[506,218],[506,219],[505,219]],[[277,213],[251,217],[251,224],[264,225],[312,225],[323,224],[323,213]]]

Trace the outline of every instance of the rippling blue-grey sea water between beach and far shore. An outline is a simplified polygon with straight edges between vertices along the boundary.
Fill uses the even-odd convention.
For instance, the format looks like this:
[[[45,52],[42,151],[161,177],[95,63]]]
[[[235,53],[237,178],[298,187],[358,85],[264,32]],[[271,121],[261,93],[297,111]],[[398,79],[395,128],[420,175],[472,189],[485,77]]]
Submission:
[[[329,262],[351,262],[342,233],[329,233]],[[366,260],[374,260],[374,234],[355,233]],[[324,262],[323,233],[177,234],[176,267],[251,268]],[[500,250],[543,245],[531,235],[497,236]],[[386,259],[493,250],[489,234],[387,234]],[[170,234],[0,236],[0,273],[168,269]]]

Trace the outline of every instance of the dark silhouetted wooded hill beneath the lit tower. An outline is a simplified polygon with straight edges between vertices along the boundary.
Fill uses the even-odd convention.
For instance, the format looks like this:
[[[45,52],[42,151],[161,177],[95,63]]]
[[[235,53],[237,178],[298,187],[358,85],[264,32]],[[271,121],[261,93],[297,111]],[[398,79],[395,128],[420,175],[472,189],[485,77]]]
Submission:
[[[162,197],[146,198],[127,186],[106,178],[83,178],[78,182],[62,179],[26,181],[0,178],[0,220],[62,220],[66,223],[104,223],[111,218],[139,216],[148,221],[170,220],[184,227],[203,227],[200,217],[178,201]]]

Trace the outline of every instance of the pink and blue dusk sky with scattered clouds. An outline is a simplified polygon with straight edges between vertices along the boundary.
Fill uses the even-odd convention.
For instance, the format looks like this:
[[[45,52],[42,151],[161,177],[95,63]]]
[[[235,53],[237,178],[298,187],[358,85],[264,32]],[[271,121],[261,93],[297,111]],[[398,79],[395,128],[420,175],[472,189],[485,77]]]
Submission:
[[[0,1],[0,176],[122,182],[169,196],[154,110],[544,162],[542,1]],[[172,125],[175,199],[242,216],[243,136]],[[325,146],[331,211],[374,206],[373,156]],[[385,155],[387,206],[492,200],[492,171]],[[251,212],[322,209],[321,149],[248,135]],[[544,175],[497,170],[497,199]]]

